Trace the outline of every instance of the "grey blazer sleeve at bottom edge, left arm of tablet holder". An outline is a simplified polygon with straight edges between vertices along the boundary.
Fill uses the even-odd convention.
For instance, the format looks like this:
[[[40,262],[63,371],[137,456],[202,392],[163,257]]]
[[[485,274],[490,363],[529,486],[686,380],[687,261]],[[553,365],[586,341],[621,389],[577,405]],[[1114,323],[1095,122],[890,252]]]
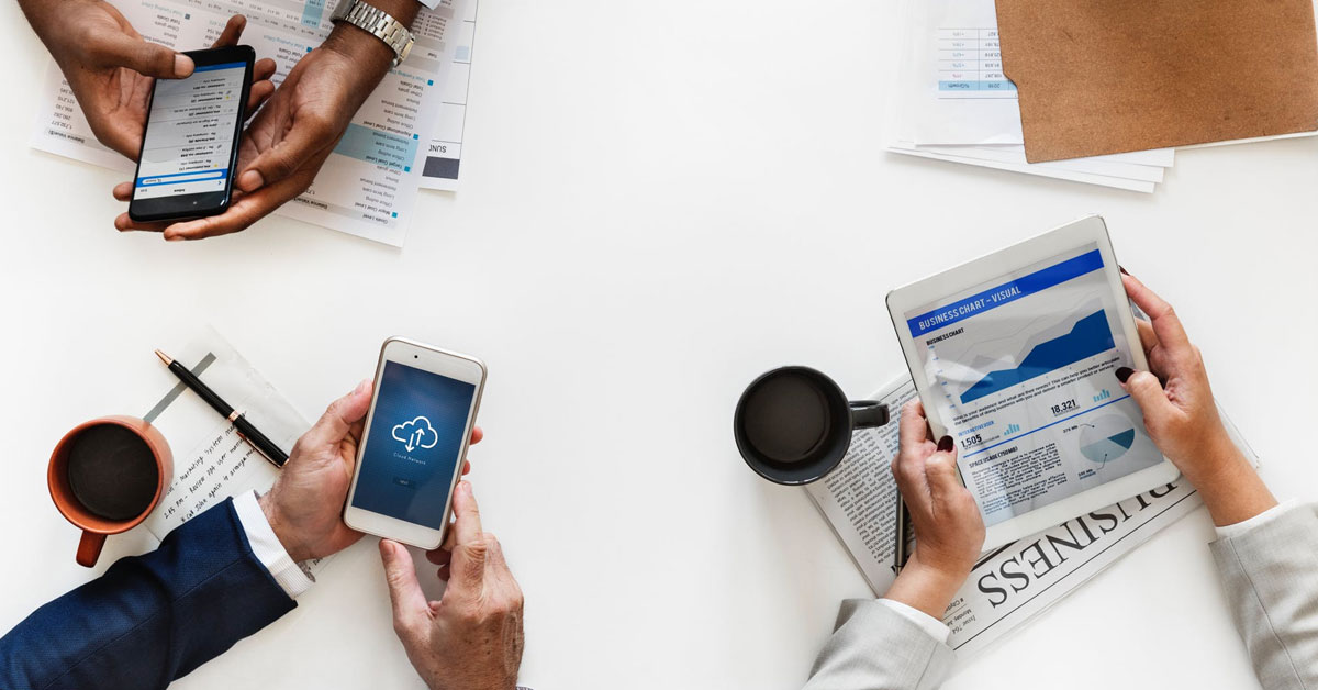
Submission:
[[[933,690],[952,669],[952,648],[874,599],[847,599],[807,690]]]

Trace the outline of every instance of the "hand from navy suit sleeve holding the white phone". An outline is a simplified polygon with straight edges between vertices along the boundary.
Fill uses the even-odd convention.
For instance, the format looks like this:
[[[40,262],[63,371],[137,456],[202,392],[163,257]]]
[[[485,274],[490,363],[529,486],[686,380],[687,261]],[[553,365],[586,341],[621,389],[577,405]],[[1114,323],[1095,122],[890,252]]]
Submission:
[[[344,524],[343,504],[368,409],[369,379],[333,401],[315,426],[302,434],[279,478],[261,496],[261,509],[294,562],[337,553],[361,538],[360,532]],[[482,437],[480,427],[472,430],[472,443],[480,443]],[[464,459],[463,474],[471,468]]]

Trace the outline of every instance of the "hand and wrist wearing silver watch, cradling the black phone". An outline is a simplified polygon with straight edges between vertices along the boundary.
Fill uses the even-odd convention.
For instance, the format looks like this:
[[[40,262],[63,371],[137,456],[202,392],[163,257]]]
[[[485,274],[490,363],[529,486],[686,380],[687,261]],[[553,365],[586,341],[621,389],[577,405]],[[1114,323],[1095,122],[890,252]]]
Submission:
[[[393,51],[384,41],[356,26],[336,26],[319,47],[298,61],[243,133],[240,173],[228,210],[177,223],[137,223],[125,212],[115,219],[115,227],[163,232],[170,241],[248,228],[311,186],[391,62]],[[121,202],[132,195],[132,182],[115,187],[115,198]]]

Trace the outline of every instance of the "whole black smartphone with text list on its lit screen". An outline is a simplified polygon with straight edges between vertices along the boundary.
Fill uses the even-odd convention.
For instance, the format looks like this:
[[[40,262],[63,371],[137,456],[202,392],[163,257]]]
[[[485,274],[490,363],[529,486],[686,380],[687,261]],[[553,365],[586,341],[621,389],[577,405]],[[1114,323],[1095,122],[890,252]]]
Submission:
[[[243,113],[252,90],[250,46],[185,53],[196,70],[156,79],[137,154],[128,218],[177,220],[223,214],[233,193]]]

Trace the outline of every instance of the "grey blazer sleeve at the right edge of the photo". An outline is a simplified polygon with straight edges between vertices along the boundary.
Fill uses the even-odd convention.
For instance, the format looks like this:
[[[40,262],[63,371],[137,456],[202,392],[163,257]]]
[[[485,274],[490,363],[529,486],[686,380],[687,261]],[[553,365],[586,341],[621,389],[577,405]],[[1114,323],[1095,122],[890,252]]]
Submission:
[[[1211,545],[1253,672],[1267,690],[1318,689],[1318,513],[1298,505]]]

